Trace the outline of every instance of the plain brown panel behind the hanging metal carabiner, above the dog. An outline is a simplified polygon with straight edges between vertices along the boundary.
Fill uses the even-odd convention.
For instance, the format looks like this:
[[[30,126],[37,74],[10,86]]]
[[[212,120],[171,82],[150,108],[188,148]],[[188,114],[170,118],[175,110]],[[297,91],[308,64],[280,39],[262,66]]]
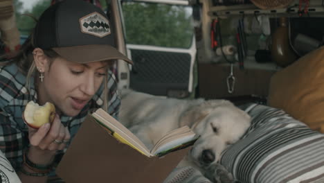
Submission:
[[[275,73],[267,69],[239,69],[234,67],[235,87],[228,93],[226,78],[229,64],[199,64],[199,97],[229,98],[237,96],[267,96],[270,78]]]

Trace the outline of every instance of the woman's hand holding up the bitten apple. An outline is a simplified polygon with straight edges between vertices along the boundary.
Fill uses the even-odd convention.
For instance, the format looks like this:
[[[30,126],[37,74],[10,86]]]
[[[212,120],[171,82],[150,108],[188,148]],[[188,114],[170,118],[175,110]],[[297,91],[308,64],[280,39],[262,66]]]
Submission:
[[[57,150],[65,148],[66,142],[71,137],[68,128],[64,127],[57,114],[53,123],[46,123],[38,130],[28,128],[28,131],[29,141],[32,145],[28,151],[28,157],[30,160],[37,158],[34,163],[50,161]]]

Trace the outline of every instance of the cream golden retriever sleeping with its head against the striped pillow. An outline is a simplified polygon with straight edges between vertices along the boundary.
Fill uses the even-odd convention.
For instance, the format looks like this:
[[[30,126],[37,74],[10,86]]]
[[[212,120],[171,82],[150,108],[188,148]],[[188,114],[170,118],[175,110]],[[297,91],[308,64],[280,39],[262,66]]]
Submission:
[[[179,166],[202,173],[215,166],[222,151],[249,128],[250,116],[226,100],[177,99],[121,90],[119,121],[152,148],[164,134],[188,125],[200,135]],[[217,180],[217,177],[213,178]]]

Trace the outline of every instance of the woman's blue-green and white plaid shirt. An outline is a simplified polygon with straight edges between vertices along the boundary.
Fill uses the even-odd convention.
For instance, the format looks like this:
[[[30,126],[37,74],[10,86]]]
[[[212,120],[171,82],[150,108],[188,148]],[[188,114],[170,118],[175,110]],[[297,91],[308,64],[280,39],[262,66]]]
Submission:
[[[109,76],[108,112],[116,118],[120,107],[120,98],[117,93],[116,78],[111,71],[109,71]],[[6,155],[16,171],[22,165],[24,150],[30,146],[28,128],[21,115],[29,101],[37,101],[33,81],[34,78],[30,78],[30,91],[28,92],[25,87],[26,76],[18,70],[16,64],[0,67],[0,150]],[[69,128],[71,139],[75,136],[88,112],[102,107],[103,88],[103,86],[100,87],[78,116],[61,116],[62,123]],[[60,161],[60,157],[65,151],[66,149],[57,152],[56,163]]]

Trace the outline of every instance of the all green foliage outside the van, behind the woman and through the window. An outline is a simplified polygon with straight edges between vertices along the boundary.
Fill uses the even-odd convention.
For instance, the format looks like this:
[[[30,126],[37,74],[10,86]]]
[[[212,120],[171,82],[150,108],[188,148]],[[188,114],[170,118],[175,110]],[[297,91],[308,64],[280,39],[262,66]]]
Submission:
[[[24,9],[23,0],[15,0],[17,26],[21,35],[29,35],[51,0],[39,0],[30,10]],[[107,9],[105,0],[100,0]],[[142,44],[175,48],[189,48],[193,26],[191,10],[185,6],[155,3],[123,3],[125,36],[128,44]],[[33,19],[32,17],[35,17]]]

